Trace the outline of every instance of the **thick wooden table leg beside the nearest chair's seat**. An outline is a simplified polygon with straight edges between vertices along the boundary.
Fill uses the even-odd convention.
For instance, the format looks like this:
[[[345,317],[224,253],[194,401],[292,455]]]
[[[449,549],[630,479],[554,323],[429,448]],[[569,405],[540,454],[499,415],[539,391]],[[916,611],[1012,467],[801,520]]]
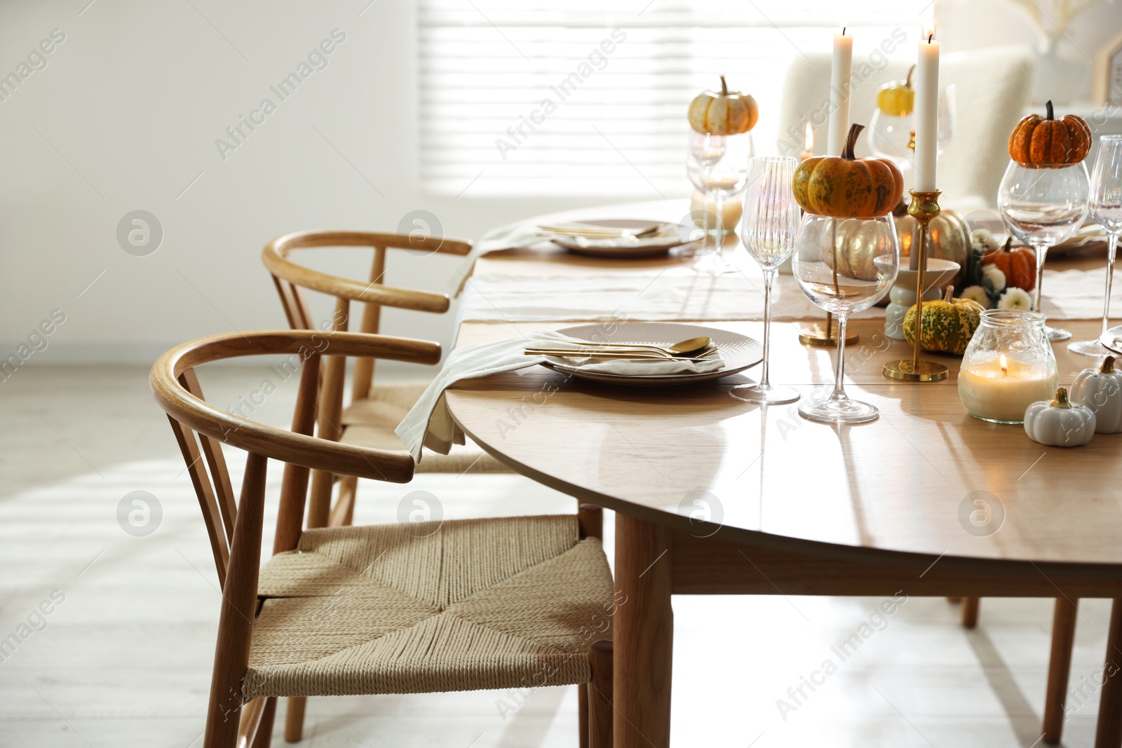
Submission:
[[[669,748],[673,533],[616,515],[615,745]]]

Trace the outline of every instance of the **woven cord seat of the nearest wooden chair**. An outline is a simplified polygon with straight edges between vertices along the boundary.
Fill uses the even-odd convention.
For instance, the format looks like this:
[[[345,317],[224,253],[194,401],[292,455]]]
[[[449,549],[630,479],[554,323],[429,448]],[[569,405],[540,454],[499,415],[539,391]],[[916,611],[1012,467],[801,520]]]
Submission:
[[[600,541],[578,532],[573,515],[305,530],[261,569],[242,693],[586,683],[613,592]]]

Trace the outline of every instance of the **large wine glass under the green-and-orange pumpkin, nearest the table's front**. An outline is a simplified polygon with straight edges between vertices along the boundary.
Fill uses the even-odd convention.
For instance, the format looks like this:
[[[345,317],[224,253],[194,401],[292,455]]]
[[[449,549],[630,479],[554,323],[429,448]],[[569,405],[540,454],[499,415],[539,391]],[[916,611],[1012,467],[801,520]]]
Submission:
[[[799,405],[799,414],[827,423],[862,423],[877,416],[875,406],[845,393],[845,327],[850,314],[881,301],[896,279],[900,240],[892,214],[875,219],[833,219],[807,214],[795,240],[791,269],[802,293],[838,318],[838,360],[834,389]]]

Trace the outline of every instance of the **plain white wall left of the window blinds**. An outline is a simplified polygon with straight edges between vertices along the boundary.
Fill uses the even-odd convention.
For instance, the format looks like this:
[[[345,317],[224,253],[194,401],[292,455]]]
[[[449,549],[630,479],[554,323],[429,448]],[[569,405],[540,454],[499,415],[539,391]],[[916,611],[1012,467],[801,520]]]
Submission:
[[[580,204],[478,201],[470,190],[460,200],[422,197],[411,2],[378,0],[361,16],[367,0],[96,0],[83,11],[85,2],[0,4],[0,74],[52,29],[66,37],[46,68],[0,101],[0,359],[55,308],[66,322],[29,363],[147,363],[190,338],[284,326],[259,259],[283,232],[395,230],[424,207],[447,236],[478,238]],[[334,28],[347,38],[328,67],[279,102],[269,85]],[[266,95],[276,112],[220,158],[214,140]],[[164,228],[147,257],[116,238],[136,209]],[[347,261],[355,251],[327,251],[321,267],[367,271],[365,252],[357,262]],[[456,266],[397,255],[388,280],[407,287],[442,288]],[[389,314],[385,331],[447,343],[451,320]]]

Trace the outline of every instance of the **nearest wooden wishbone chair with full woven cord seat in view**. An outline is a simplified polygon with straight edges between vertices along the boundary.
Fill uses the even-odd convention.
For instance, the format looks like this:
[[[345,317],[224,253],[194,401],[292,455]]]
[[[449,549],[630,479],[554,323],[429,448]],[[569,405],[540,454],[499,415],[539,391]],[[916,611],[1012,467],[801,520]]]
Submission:
[[[588,684],[580,745],[610,746],[611,648],[600,639],[614,602],[599,508],[302,529],[310,471],[395,483],[413,477],[404,451],[311,435],[329,353],[433,363],[440,345],[346,332],[231,333],[180,345],[151,370],[222,590],[204,748],[268,746],[278,696],[572,683]],[[195,367],[259,354],[301,361],[291,432],[203,399]],[[237,500],[222,444],[248,452]],[[270,459],[285,468],[274,555],[259,567]]]

